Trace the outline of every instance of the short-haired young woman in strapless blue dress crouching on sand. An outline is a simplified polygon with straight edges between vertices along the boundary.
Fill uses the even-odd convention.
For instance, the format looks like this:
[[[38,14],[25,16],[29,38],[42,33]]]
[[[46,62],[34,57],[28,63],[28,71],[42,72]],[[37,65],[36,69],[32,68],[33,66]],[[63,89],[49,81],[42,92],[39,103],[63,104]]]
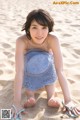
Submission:
[[[26,34],[16,41],[16,75],[14,81],[14,105],[21,109],[21,89],[26,88],[27,100],[24,107],[36,104],[35,91],[45,87],[48,106],[59,107],[55,97],[55,81],[58,79],[63,91],[64,103],[72,102],[66,77],[63,72],[63,60],[59,40],[51,35],[54,21],[43,10],[31,11],[22,30]],[[71,104],[72,105],[72,104]],[[73,107],[73,105],[71,106]],[[79,112],[77,108],[74,110]]]

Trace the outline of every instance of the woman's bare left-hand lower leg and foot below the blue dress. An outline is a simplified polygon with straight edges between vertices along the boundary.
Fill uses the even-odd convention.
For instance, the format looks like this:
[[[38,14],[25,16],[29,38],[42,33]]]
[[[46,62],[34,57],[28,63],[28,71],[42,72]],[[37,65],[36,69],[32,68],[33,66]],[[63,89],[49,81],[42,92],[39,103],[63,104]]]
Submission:
[[[24,103],[24,108],[32,107],[36,104],[35,92],[31,90],[26,90],[27,101]]]

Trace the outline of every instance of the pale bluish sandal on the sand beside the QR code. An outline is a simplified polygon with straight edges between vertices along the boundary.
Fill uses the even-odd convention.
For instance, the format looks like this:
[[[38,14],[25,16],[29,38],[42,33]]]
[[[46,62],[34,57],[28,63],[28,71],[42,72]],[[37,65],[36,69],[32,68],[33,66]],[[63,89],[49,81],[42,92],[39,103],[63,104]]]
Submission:
[[[21,109],[17,112],[17,108],[12,105],[11,110],[14,110],[14,113],[11,114],[11,120],[22,120],[21,113],[25,111],[25,109]]]

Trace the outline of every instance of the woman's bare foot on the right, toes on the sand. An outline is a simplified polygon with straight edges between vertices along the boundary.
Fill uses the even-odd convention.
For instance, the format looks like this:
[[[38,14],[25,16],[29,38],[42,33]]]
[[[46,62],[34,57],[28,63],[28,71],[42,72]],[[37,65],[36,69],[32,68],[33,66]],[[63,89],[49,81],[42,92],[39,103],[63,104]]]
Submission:
[[[60,103],[60,99],[59,98],[56,98],[56,97],[52,97],[48,100],[48,106],[49,107],[60,107],[61,106],[61,103]]]

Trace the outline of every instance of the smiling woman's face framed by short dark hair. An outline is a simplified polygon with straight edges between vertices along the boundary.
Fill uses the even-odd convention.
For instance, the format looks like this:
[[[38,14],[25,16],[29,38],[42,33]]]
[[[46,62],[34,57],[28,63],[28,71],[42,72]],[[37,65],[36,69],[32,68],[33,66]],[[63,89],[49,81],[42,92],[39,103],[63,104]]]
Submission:
[[[42,44],[49,33],[49,29],[47,26],[42,26],[33,20],[29,32],[31,35],[31,40],[34,43]]]

